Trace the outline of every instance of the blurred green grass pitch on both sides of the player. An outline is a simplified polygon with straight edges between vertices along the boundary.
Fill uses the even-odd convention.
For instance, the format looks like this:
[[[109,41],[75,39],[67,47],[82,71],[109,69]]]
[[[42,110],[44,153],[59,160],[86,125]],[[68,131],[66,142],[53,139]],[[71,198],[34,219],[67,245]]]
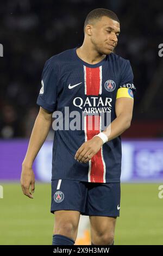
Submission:
[[[34,199],[22,194],[20,184],[1,184],[0,245],[51,245],[53,215],[51,185],[36,183]],[[163,245],[161,184],[122,184],[121,216],[115,245]]]

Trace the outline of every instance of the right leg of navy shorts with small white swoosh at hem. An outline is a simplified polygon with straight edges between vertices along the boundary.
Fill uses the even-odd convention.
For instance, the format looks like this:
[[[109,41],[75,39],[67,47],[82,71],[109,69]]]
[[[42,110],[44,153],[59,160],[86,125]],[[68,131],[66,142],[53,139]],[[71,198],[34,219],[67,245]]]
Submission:
[[[91,184],[87,191],[86,215],[120,216],[120,183]],[[109,220],[106,218],[106,220]]]

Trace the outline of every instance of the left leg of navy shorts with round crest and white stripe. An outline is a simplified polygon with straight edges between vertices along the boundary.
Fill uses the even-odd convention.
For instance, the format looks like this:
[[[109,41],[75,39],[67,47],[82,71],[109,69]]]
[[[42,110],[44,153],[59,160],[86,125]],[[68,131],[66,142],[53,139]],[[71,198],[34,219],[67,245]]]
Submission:
[[[76,180],[52,180],[51,212],[85,212],[87,187]]]

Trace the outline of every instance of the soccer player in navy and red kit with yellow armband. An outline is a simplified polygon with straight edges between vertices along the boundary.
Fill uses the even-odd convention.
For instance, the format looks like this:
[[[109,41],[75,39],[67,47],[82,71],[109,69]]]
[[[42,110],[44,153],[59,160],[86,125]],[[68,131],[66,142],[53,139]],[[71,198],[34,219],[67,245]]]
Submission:
[[[53,125],[59,125],[52,160],[53,245],[74,245],[80,214],[90,218],[92,245],[114,244],[120,215],[120,135],[130,127],[135,91],[129,60],[113,53],[119,34],[115,13],[92,10],[84,23],[83,45],[51,57],[42,72],[40,111],[22,164],[21,186],[33,198],[32,164],[54,112]],[[107,114],[110,123],[102,129]]]

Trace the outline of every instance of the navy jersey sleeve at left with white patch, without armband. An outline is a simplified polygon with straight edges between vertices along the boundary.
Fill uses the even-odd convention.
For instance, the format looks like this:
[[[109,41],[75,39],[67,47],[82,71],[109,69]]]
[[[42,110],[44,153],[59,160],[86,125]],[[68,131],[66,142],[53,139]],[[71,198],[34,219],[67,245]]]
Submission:
[[[57,70],[54,70],[47,60],[42,71],[42,87],[36,103],[49,112],[54,112],[57,108],[57,78]]]

